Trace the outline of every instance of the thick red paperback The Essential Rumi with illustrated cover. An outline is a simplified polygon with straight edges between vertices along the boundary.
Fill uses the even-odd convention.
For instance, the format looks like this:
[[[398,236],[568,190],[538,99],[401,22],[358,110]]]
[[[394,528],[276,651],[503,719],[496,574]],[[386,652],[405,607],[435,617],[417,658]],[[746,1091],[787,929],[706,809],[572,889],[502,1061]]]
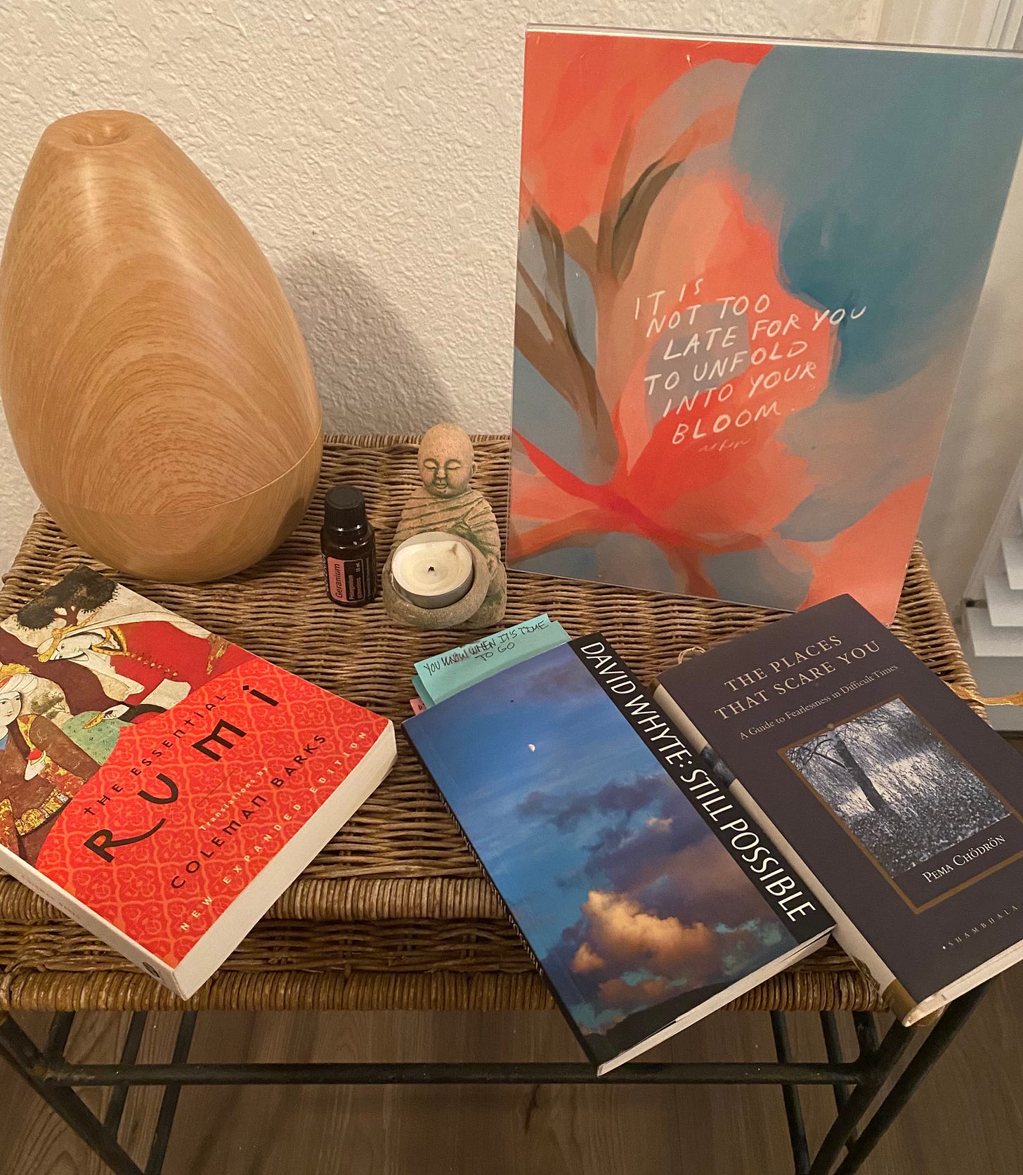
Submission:
[[[395,760],[388,719],[88,568],[0,657],[0,870],[186,999]]]

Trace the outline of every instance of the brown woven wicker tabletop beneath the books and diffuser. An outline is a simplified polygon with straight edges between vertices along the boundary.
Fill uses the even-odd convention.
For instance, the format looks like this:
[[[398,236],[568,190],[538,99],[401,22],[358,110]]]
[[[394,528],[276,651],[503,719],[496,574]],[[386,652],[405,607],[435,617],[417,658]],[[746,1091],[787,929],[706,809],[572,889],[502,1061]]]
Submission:
[[[358,485],[381,562],[416,483],[415,437],[329,437],[317,497],[300,530],[258,566],[198,586],[124,579],[143,596],[354,701],[409,717],[415,662],[467,639],[392,625],[379,603],[344,610],[323,589],[324,490]],[[476,485],[504,525],[506,438],[477,438]],[[159,536],[154,536],[159,542]],[[79,563],[47,515],[33,521],[0,592],[15,611]],[[573,636],[600,630],[641,680],[689,646],[708,647],[782,615],[719,600],[547,576],[509,576],[505,624],[548,612]],[[894,631],[953,686],[975,689],[922,552],[914,551]],[[274,905],[193,1007],[553,1007],[507,914],[408,741],[370,800]],[[180,1007],[11,878],[0,875],[0,1010]],[[876,989],[835,948],[736,1001],[749,1009],[876,1009]]]

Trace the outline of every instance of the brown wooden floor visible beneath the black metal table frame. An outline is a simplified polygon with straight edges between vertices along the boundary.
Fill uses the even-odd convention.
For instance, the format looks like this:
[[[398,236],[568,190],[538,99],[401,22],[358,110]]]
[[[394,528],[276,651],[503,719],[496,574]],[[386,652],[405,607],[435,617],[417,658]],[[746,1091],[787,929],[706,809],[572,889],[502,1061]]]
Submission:
[[[47,1018],[22,1016],[36,1036]],[[817,1018],[790,1018],[802,1060]],[[127,1016],[79,1016],[68,1055],[113,1060]],[[167,1060],[176,1016],[140,1060]],[[769,1022],[719,1013],[651,1059],[773,1060]],[[558,1013],[207,1013],[193,1060],[578,1060]],[[99,1090],[94,1104],[106,1095]],[[92,1094],[90,1094],[92,1096]],[[133,1090],[121,1140],[141,1159],[159,1090]],[[834,1113],[803,1093],[812,1144]],[[0,1175],[106,1168],[0,1063]],[[864,1175],[1023,1170],[1023,967],[1001,976],[864,1167]],[[790,1175],[781,1092],[767,1088],[189,1089],[166,1175]]]

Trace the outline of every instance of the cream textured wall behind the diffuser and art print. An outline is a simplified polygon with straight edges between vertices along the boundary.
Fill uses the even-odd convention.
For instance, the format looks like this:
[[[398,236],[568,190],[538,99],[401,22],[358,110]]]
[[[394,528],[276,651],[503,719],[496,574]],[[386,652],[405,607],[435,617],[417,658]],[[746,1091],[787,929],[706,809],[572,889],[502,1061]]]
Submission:
[[[140,110],[220,186],[276,267],[330,428],[404,431],[452,417],[504,430],[525,26],[870,40],[880,7],[4,0],[0,227],[47,122]],[[32,505],[4,435],[0,566]]]

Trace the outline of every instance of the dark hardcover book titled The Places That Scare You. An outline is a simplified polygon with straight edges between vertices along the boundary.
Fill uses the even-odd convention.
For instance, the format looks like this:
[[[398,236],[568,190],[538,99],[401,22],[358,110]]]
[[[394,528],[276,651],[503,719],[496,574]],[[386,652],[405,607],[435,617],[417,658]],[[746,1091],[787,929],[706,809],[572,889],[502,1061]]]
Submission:
[[[903,1023],[1023,958],[1019,757],[854,599],[659,682]]]

